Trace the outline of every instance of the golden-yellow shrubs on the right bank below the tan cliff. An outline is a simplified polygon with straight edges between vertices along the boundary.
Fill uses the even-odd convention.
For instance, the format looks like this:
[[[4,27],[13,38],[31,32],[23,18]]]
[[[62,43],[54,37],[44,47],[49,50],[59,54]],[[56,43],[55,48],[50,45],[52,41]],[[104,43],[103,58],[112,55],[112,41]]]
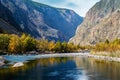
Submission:
[[[92,48],[91,53],[102,56],[120,57],[120,39],[97,43]]]

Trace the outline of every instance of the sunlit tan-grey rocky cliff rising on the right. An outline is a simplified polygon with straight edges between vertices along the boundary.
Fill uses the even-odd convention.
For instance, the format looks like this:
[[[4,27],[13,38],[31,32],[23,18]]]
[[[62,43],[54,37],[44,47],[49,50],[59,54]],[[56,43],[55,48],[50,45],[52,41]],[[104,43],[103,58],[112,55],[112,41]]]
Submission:
[[[70,42],[91,45],[120,38],[120,0],[101,0],[87,13]]]

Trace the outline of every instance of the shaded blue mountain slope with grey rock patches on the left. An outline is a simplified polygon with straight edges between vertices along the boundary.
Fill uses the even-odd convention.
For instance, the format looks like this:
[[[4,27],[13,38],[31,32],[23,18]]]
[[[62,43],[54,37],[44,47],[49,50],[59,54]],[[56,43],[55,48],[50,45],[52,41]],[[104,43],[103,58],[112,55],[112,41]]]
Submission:
[[[83,18],[74,11],[50,7],[32,0],[0,0],[0,19],[15,31],[35,38],[68,41]],[[4,24],[4,23],[3,23]],[[1,29],[5,29],[1,26]],[[8,27],[8,25],[7,25]],[[6,27],[6,28],[7,28]]]

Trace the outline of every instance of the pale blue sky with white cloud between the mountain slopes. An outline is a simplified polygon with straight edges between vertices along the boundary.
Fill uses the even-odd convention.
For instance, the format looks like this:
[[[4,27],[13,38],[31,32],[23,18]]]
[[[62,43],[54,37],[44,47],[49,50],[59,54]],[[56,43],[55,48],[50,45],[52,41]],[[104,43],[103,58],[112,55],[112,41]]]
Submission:
[[[99,0],[33,0],[57,8],[67,8],[74,10],[80,16],[85,16],[86,12]]]

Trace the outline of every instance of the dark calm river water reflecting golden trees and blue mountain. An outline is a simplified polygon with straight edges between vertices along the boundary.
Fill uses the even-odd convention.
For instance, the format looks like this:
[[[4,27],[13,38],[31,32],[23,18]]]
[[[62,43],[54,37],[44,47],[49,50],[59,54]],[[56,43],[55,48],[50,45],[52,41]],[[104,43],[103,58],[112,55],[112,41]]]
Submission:
[[[0,80],[120,80],[120,63],[86,57],[32,60],[20,68],[0,68]]]

